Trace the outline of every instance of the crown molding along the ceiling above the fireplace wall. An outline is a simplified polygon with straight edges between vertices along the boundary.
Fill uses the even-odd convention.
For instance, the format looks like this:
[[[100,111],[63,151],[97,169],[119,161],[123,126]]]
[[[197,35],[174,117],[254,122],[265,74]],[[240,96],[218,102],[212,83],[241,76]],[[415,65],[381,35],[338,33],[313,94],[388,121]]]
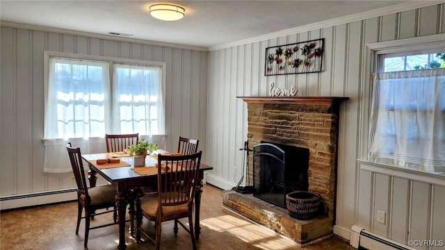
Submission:
[[[336,26],[336,25],[341,25],[341,24],[347,24],[350,22],[357,22],[357,21],[361,21],[364,19],[370,19],[370,18],[374,18],[374,17],[381,17],[384,15],[391,15],[394,14],[396,12],[403,12],[403,11],[407,11],[407,10],[413,10],[416,8],[423,8],[423,7],[427,7],[427,6],[433,6],[436,4],[441,4],[441,3],[445,3],[445,1],[409,1],[407,3],[400,3],[394,6],[388,6],[388,7],[384,7],[384,8],[378,8],[375,10],[369,10],[369,11],[365,11],[365,12],[360,12],[357,14],[353,14],[353,15],[347,15],[344,17],[338,17],[338,18],[334,18],[334,19],[330,19],[330,20],[326,20],[323,22],[317,22],[314,24],[307,24],[304,26],[298,26],[296,28],[289,28],[283,31],[277,31],[274,33],[268,33],[265,35],[259,35],[257,37],[254,38],[248,38],[245,40],[239,40],[236,42],[230,42],[227,44],[220,44],[220,45],[216,45],[213,47],[209,47],[209,51],[217,51],[220,49],[228,49],[231,47],[236,47],[239,45],[244,45],[244,44],[250,44],[250,43],[254,43],[254,42],[260,42],[263,40],[268,40],[268,39],[273,39],[273,38],[280,38],[286,35],[293,35],[293,34],[297,34],[297,33],[302,33],[302,32],[307,32],[307,31],[314,31],[316,29],[320,29],[320,28],[327,28],[327,27],[332,27],[332,26]]]

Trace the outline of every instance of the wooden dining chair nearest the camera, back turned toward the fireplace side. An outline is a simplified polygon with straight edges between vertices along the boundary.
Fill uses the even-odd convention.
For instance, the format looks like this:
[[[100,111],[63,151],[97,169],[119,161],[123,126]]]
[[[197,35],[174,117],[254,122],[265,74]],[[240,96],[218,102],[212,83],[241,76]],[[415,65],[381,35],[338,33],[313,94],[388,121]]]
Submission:
[[[193,231],[193,206],[202,151],[182,156],[158,156],[158,194],[154,197],[136,197],[136,242],[141,233],[156,244],[161,243],[162,222],[175,220],[173,232],[178,233],[178,224],[191,236],[193,249],[196,249]],[[141,227],[146,217],[155,222],[154,238]],[[179,219],[188,218],[188,228]]]

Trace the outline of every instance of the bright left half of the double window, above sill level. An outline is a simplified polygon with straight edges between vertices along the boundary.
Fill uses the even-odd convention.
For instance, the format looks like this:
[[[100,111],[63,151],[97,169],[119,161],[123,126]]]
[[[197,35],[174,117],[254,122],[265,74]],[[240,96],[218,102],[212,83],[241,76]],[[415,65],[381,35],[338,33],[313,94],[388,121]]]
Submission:
[[[109,122],[108,63],[49,58],[44,138],[103,136]]]

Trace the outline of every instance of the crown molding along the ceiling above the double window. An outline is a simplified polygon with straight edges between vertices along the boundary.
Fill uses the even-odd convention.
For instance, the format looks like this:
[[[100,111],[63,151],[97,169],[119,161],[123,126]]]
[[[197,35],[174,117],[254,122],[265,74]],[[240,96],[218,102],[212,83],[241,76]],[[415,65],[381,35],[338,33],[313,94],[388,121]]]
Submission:
[[[207,49],[207,47],[172,44],[172,43],[166,43],[166,42],[154,42],[154,41],[149,41],[149,40],[140,40],[140,39],[133,39],[133,38],[120,38],[120,37],[115,37],[113,35],[101,35],[101,34],[97,34],[97,33],[72,31],[72,30],[67,30],[67,29],[63,29],[63,28],[50,28],[50,27],[45,27],[45,26],[33,25],[33,24],[20,24],[20,23],[15,23],[15,22],[0,22],[0,26],[10,27],[10,28],[22,28],[22,29],[28,29],[28,30],[33,30],[33,31],[61,33],[61,34],[65,34],[65,35],[79,35],[79,36],[84,36],[84,37],[88,37],[88,38],[113,40],[113,41],[117,41],[117,42],[131,42],[131,43],[145,44],[145,45],[152,45],[152,46],[159,46],[159,47],[170,47],[170,48],[175,48],[175,49],[190,49],[190,50],[194,50],[194,51],[209,51]]]

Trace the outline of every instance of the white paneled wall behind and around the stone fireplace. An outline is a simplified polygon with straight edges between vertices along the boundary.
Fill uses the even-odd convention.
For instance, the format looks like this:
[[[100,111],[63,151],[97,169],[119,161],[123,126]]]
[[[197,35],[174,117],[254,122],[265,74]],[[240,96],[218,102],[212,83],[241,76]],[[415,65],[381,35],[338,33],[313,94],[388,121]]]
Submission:
[[[445,33],[444,12],[439,3],[211,51],[207,160],[214,170],[208,182],[230,188],[241,177],[244,152],[238,149],[247,139],[248,121],[237,96],[267,96],[274,82],[280,88],[296,86],[300,96],[349,97],[340,111],[334,233],[349,238],[351,226],[358,225],[402,244],[444,240],[445,178],[413,181],[404,172],[362,169],[357,162],[366,159],[371,99],[372,55],[366,44]],[[266,47],[317,38],[325,38],[323,72],[264,76]],[[378,210],[386,213],[386,224],[377,222]]]

